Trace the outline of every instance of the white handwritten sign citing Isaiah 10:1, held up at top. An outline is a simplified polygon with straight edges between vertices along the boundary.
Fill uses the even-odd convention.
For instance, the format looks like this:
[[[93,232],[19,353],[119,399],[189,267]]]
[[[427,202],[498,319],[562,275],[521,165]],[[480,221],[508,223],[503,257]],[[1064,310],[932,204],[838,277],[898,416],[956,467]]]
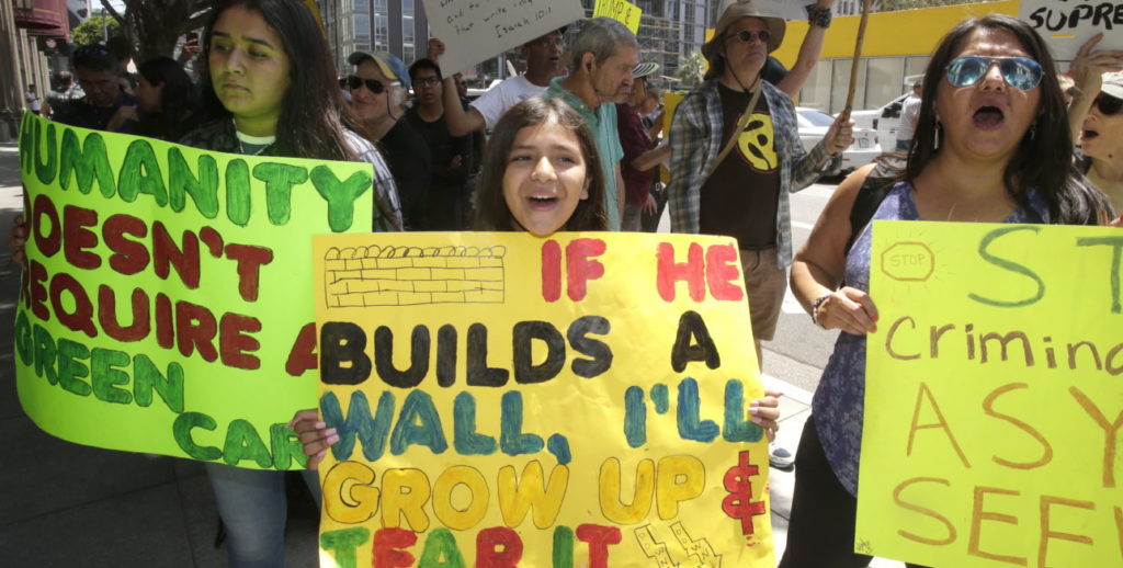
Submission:
[[[422,0],[440,66],[467,68],[584,17],[581,0]]]

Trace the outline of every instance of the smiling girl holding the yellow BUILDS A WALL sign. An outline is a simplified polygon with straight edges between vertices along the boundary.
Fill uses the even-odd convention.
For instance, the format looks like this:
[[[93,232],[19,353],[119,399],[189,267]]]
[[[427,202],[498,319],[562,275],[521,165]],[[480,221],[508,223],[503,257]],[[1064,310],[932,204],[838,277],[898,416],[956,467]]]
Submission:
[[[489,140],[476,228],[544,238],[559,230],[605,230],[601,172],[593,132],[575,110],[558,99],[527,99],[503,114]],[[752,401],[749,414],[772,440],[780,393],[766,394]],[[317,409],[298,412],[289,425],[300,434],[310,469],[339,441]]]

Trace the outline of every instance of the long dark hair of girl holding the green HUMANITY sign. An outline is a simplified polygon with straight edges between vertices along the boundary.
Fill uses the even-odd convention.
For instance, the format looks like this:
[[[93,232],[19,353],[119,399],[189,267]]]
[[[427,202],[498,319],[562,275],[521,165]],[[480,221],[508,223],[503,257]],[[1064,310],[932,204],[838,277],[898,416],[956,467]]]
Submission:
[[[323,30],[300,0],[229,0],[217,2],[203,35],[203,59],[209,61],[214,22],[229,8],[243,7],[262,15],[281,37],[290,62],[289,91],[281,103],[276,146],[289,157],[355,159],[344,137],[344,127],[357,121],[345,108],[335,62]],[[203,66],[203,108],[214,118],[230,116],[214,94],[209,65]]]

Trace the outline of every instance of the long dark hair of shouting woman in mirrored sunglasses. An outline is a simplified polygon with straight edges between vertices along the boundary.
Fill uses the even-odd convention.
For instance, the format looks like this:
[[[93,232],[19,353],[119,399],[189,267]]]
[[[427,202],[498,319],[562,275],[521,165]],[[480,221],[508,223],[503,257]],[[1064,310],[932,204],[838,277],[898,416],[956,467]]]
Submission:
[[[943,36],[924,72],[920,116],[904,178],[914,181],[939,152],[935,148],[935,103],[940,83],[946,80],[948,64],[962,52],[967,38],[977,29],[1002,29],[1014,34],[1030,57],[1041,64],[1038,89],[1041,102],[1034,127],[1022,137],[1014,157],[1003,176],[1007,191],[1023,207],[1029,205],[1026,191],[1037,187],[1049,203],[1050,222],[1060,225],[1096,225],[1102,211],[1108,210],[1103,195],[1090,187],[1072,164],[1072,135],[1068,129],[1068,109],[1057,81],[1057,67],[1041,36],[1029,24],[1016,18],[993,13],[971,18]],[[1035,130],[1035,134],[1033,132]]]

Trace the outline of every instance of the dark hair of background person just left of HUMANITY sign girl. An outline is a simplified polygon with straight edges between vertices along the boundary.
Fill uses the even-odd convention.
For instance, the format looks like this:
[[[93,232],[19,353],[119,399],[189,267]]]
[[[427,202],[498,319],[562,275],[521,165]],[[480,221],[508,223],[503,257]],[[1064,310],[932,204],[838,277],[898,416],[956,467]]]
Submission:
[[[186,120],[199,109],[191,77],[175,59],[163,55],[141,63],[137,72],[152,86],[164,85],[159,109],[145,113],[138,134],[161,140],[179,140],[190,130]]]

